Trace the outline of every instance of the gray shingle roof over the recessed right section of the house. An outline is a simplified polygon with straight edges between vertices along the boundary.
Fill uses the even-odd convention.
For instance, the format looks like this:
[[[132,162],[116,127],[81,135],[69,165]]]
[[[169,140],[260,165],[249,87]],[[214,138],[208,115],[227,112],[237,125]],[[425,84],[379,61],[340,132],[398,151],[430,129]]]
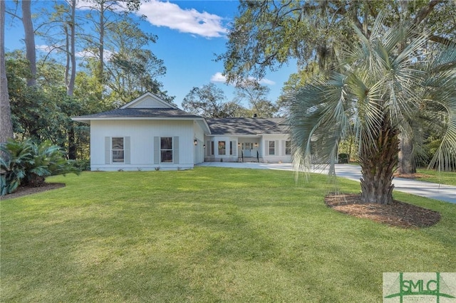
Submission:
[[[206,118],[211,134],[287,134],[285,118]]]

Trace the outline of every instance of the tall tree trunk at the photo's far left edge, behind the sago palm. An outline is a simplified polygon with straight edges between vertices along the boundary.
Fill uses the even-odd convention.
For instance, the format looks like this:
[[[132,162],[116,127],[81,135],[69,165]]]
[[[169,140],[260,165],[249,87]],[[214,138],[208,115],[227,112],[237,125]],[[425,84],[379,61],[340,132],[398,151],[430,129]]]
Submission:
[[[0,143],[13,137],[5,66],[5,2],[0,1]]]

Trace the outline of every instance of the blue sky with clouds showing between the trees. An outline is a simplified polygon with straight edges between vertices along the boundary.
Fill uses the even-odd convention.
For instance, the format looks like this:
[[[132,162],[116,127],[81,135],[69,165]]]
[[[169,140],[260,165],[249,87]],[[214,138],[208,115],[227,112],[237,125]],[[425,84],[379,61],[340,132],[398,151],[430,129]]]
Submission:
[[[11,0],[8,2],[7,7],[14,5]],[[51,5],[51,1],[41,0],[39,4]],[[32,13],[33,6],[39,4],[32,2]],[[83,1],[78,5],[83,6]],[[167,68],[166,75],[158,80],[169,95],[175,96],[177,105],[181,105],[192,87],[209,83],[221,88],[227,101],[234,97],[234,87],[225,84],[222,77],[223,63],[215,62],[214,54],[224,53],[226,49],[227,28],[237,14],[238,5],[238,1],[228,0],[150,0],[142,4],[137,14],[147,16],[147,20],[141,22],[141,28],[158,36],[157,43],[151,44],[150,49]],[[14,23],[6,22],[6,50],[24,48],[21,26],[17,19]],[[37,37],[36,46],[46,48],[46,43]],[[44,53],[37,51],[37,55]],[[283,83],[295,71],[296,65],[291,64],[266,75],[261,83],[271,89],[269,100],[276,101]]]

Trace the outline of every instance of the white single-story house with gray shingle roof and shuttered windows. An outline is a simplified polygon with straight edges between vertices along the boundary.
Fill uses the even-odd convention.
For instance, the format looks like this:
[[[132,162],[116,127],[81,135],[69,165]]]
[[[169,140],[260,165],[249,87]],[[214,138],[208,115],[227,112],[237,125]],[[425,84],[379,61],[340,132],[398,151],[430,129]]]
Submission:
[[[93,171],[192,169],[203,161],[290,162],[284,118],[204,118],[147,92],[90,124]]]

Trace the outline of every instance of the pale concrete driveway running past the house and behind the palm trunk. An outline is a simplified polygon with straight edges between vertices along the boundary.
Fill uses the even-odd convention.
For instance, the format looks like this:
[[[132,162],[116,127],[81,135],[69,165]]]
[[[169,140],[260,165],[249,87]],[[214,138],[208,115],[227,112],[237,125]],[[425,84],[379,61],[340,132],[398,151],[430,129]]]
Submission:
[[[238,163],[238,162],[204,162],[197,166],[232,167],[238,169],[279,169],[292,171],[290,163]],[[328,174],[327,169],[314,169],[315,173]],[[361,179],[361,167],[351,164],[336,164],[336,176],[359,181]],[[434,184],[424,181],[395,178],[393,179],[395,191],[412,193],[416,196],[423,196],[435,200],[456,203],[456,186]]]

